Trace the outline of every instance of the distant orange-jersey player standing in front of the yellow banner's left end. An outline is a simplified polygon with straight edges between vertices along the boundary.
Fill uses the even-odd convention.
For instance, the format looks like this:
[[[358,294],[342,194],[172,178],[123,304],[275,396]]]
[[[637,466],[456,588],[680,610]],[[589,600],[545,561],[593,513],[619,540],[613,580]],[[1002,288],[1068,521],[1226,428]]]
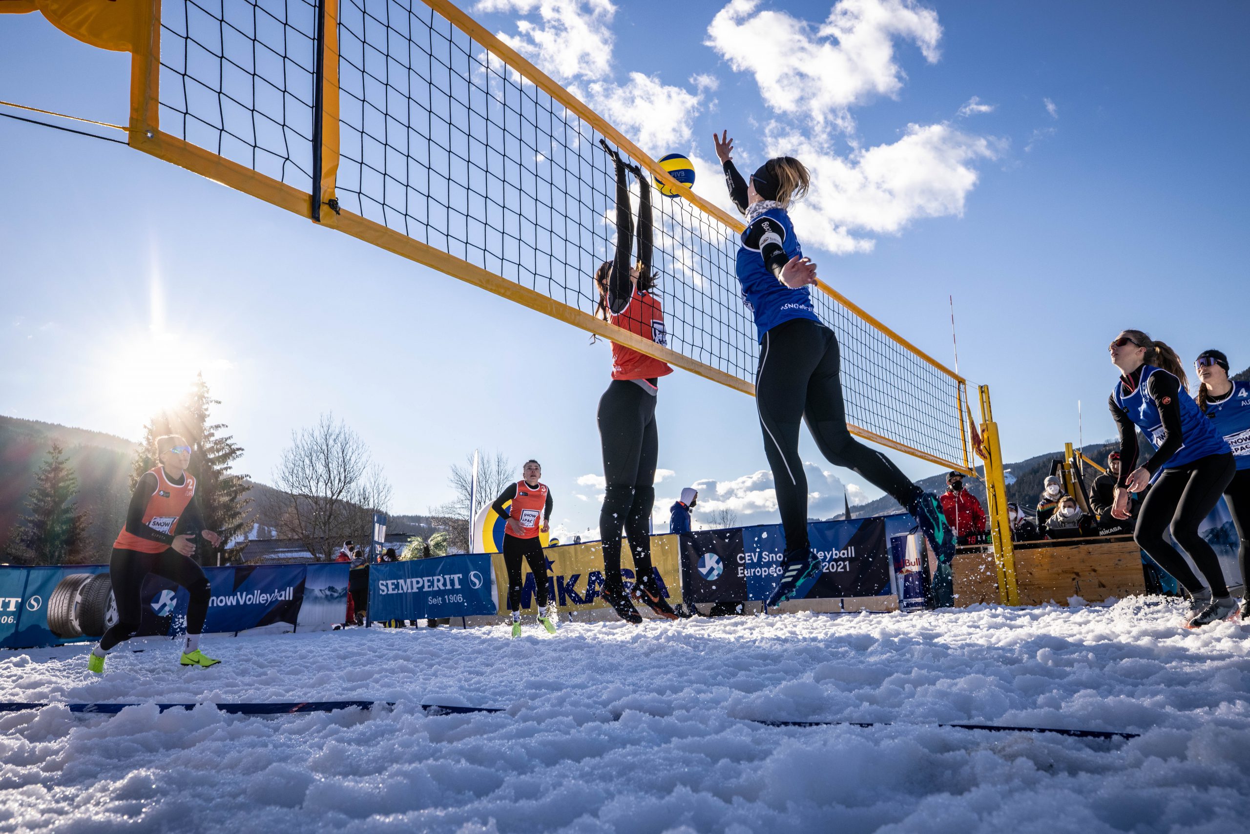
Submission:
[[[510,484],[500,493],[491,508],[508,519],[504,529],[504,566],[508,568],[508,610],[512,613],[512,636],[521,636],[521,560],[530,564],[534,590],[539,603],[539,623],[555,634],[559,614],[555,600],[548,603],[546,554],[539,533],[551,529],[551,491],[542,478],[542,466],[536,460],[526,460],[521,468],[522,480]],[[504,505],[511,501],[511,506]]]

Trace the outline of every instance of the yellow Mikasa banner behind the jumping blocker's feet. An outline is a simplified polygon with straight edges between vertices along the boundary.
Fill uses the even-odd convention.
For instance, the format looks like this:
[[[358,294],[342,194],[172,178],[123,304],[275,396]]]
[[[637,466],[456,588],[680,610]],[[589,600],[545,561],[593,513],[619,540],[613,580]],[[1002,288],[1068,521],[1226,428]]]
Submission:
[[[610,608],[604,601],[604,551],[599,541],[586,544],[566,544],[546,548],[548,559],[548,599],[554,599],[561,611],[581,611],[595,608]],[[495,580],[499,588],[500,605],[506,606],[508,569],[502,554],[491,554],[495,564]],[[681,556],[678,536],[651,536],[651,566],[655,570],[660,593],[676,605],[682,599]],[[521,586],[521,610],[538,610],[534,574],[524,565]],[[634,555],[629,549],[629,539],[621,540],[621,578],[625,586],[634,585]]]

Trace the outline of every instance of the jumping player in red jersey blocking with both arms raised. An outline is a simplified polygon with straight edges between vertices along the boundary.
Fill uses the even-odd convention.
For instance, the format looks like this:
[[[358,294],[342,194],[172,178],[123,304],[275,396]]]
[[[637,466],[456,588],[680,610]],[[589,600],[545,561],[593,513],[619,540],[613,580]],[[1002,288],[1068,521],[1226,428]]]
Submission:
[[[595,271],[599,285],[599,314],[608,321],[658,345],[665,344],[664,309],[652,293],[651,185],[638,166],[626,168],[620,155],[602,143],[616,166],[616,256]],[[639,181],[638,263],[630,266],[634,244],[632,206],[626,170]],[[666,364],[631,348],[612,343],[612,381],[599,400],[599,436],[604,448],[604,478],[608,486],[599,511],[599,534],[604,548],[604,599],[621,619],[642,618],[625,593],[621,576],[621,529],[634,554],[632,596],[660,616],[676,619],[664,599],[651,565],[649,521],[655,504],[655,465],[659,435],[655,426],[655,398],[660,376],[671,374]]]

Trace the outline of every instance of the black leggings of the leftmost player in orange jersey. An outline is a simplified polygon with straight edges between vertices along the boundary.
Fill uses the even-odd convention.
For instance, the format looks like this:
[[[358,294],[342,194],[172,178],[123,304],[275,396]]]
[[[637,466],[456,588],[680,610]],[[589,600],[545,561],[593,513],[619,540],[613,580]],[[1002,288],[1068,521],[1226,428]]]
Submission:
[[[114,548],[112,558],[109,559],[109,579],[112,581],[112,599],[118,604],[118,621],[100,638],[100,648],[105,651],[129,640],[139,630],[144,606],[140,594],[148,574],[164,576],[185,588],[191,595],[186,606],[186,633],[199,634],[204,630],[211,591],[202,568],[172,548],[165,553]]]

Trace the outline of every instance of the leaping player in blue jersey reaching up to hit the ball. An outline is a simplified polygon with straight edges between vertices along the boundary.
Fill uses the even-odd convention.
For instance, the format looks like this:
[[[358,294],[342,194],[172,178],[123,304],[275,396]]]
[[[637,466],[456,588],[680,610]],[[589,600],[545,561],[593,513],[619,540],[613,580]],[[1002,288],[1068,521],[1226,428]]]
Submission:
[[[820,559],[808,544],[808,479],[799,456],[802,421],[831,464],[885,490],[919,520],[938,554],[934,595],[940,605],[952,604],[950,561],[955,536],[938,498],[908,480],[894,461],[855,440],[846,429],[838,338],[812,306],[808,288],[816,284],[816,265],[802,256],[788,213],[790,203],[808,191],[808,169],[792,156],[779,156],[760,165],[748,181],[734,166],[734,140],[724,133],[712,138],[730,198],[746,215],[738,250],[738,280],[759,331],[755,403],[786,540],[781,581],[768,604],[805,595],[821,571]]]

